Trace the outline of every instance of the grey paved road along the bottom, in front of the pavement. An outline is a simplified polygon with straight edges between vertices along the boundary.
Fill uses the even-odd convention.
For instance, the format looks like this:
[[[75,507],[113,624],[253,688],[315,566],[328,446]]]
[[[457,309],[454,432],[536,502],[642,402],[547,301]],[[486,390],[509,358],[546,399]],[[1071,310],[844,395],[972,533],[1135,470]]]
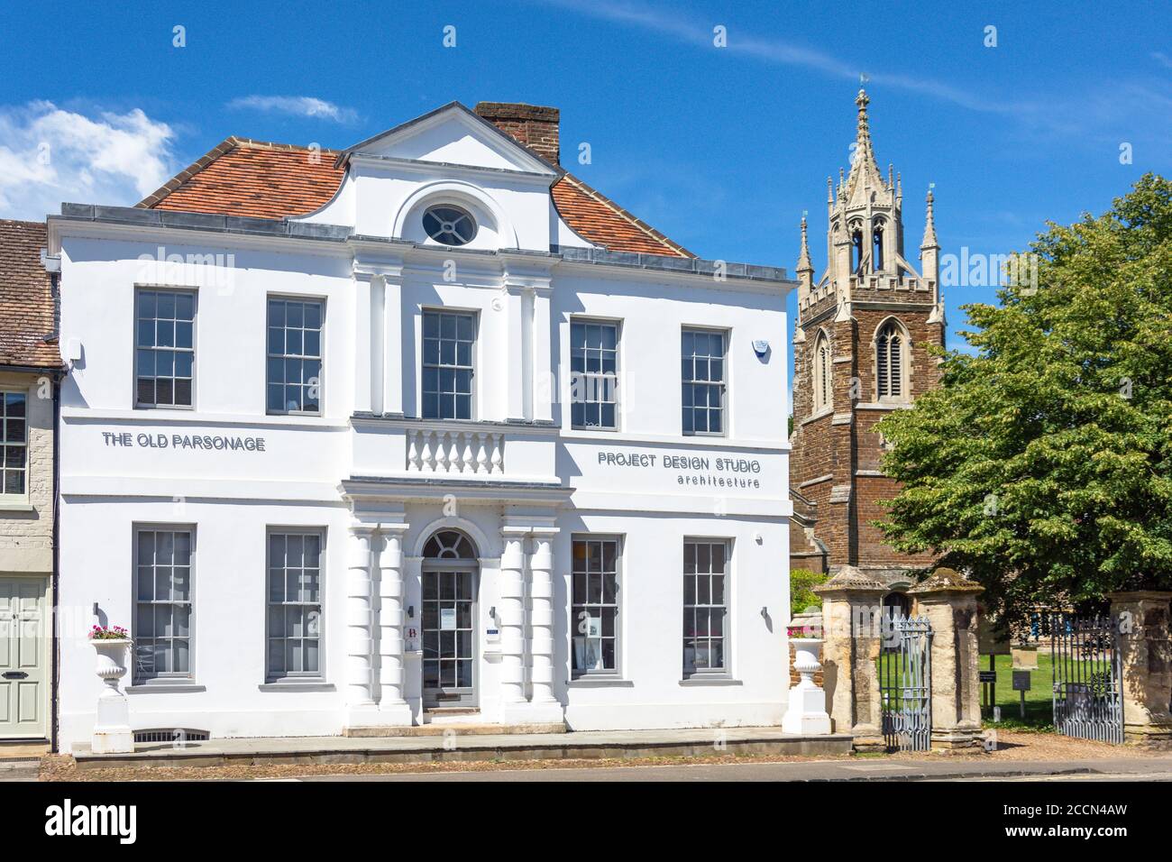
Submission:
[[[796,763],[694,763],[585,769],[314,775],[299,781],[1172,781],[1172,758],[1082,761],[806,761]]]

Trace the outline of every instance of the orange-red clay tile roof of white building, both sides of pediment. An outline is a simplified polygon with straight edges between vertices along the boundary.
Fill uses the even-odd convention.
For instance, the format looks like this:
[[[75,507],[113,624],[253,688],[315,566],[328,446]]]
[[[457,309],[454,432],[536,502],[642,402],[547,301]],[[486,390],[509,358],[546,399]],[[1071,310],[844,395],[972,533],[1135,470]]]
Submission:
[[[345,169],[336,150],[230,137],[138,206],[223,216],[286,218],[326,204]],[[570,174],[554,183],[558,212],[584,239],[611,251],[695,257]]]

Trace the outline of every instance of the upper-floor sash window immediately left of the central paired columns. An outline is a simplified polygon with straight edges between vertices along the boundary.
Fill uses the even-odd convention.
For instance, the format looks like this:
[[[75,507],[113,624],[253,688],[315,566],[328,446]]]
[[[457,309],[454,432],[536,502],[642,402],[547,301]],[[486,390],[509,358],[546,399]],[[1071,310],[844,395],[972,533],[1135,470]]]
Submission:
[[[320,299],[268,298],[268,413],[321,413]]]

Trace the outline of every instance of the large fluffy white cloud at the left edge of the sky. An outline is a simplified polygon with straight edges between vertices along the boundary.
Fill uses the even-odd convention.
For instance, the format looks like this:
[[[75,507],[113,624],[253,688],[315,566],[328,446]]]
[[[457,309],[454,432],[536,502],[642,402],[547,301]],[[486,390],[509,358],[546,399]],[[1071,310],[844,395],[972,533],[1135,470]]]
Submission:
[[[134,205],[175,174],[173,138],[138,108],[90,118],[52,102],[0,106],[0,215],[39,220],[63,201]]]

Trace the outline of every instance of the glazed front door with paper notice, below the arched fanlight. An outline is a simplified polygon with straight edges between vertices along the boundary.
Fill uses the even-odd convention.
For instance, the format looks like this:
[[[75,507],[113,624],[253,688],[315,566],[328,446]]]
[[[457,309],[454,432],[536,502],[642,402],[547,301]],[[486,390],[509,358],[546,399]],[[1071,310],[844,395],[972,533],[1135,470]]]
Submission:
[[[423,572],[423,705],[476,703],[471,571]]]

